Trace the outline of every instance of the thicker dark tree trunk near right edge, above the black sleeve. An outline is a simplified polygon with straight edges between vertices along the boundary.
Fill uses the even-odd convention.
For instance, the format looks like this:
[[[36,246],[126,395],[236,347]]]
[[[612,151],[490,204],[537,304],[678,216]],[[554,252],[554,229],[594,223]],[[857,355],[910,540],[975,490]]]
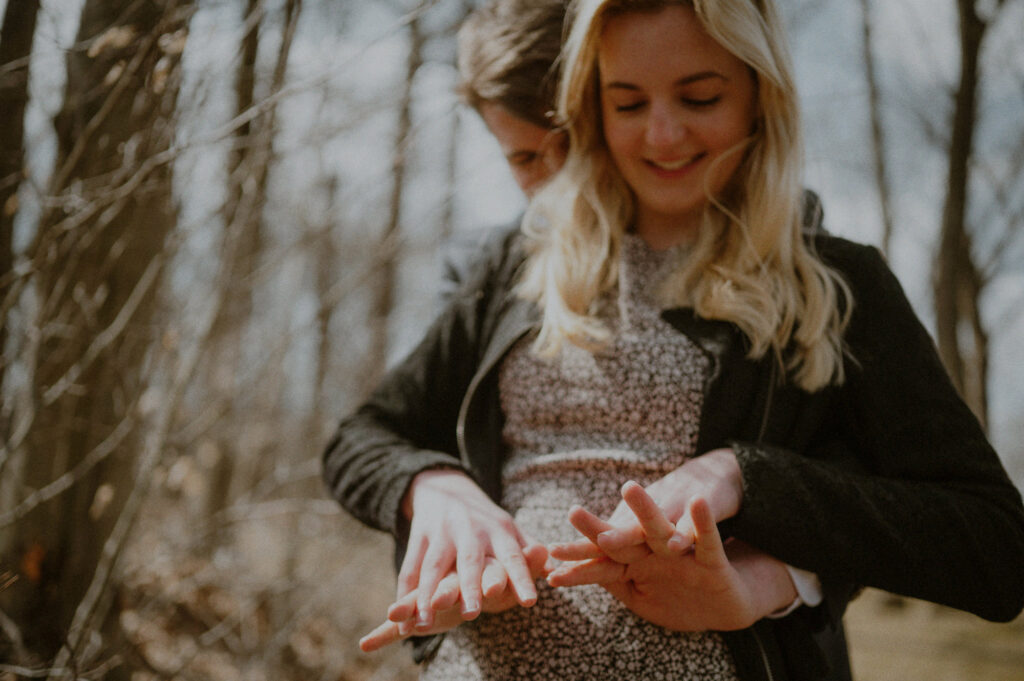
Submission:
[[[967,225],[967,196],[977,120],[979,58],[987,25],[978,16],[974,0],[957,0],[957,8],[961,80],[953,111],[939,251],[932,268],[933,292],[939,354],[953,384],[985,425],[987,342],[981,342],[983,334],[980,337],[977,332],[983,280]],[[974,387],[968,390],[968,386]]]

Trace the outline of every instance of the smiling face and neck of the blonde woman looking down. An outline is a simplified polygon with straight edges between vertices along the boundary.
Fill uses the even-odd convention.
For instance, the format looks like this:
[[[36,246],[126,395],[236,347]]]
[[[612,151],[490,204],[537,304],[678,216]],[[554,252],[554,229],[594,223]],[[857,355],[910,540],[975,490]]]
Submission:
[[[604,138],[636,196],[636,229],[654,248],[691,239],[751,134],[754,76],[709,36],[689,6],[611,17],[598,46]],[[711,173],[711,174],[709,174]]]

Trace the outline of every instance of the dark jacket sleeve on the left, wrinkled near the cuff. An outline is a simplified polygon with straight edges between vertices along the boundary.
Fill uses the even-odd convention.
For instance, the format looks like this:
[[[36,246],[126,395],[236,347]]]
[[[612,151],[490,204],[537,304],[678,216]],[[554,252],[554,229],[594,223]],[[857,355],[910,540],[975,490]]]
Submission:
[[[361,522],[401,537],[401,500],[431,468],[463,468],[456,424],[478,359],[494,273],[504,249],[488,245],[419,345],[344,418],[323,455],[331,495]]]

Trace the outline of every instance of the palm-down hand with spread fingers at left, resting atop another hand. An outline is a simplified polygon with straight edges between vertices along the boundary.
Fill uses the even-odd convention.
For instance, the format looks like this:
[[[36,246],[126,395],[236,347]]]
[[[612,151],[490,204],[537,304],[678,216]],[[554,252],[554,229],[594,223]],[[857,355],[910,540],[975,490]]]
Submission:
[[[537,602],[526,554],[536,561],[543,552],[543,564],[547,550],[520,533],[512,516],[464,472],[441,469],[418,474],[402,502],[402,511],[411,520],[409,548],[391,609],[415,603],[415,633],[431,633],[434,614],[451,609],[452,603],[446,602],[451,585],[445,585],[447,591],[439,587],[453,572],[461,603],[459,616],[477,616],[483,609],[481,584],[488,559],[507,576],[511,595],[519,605],[528,607]],[[414,593],[415,598],[411,596]],[[399,608],[393,618],[400,623],[402,636],[414,633],[414,621],[400,616],[404,609]]]

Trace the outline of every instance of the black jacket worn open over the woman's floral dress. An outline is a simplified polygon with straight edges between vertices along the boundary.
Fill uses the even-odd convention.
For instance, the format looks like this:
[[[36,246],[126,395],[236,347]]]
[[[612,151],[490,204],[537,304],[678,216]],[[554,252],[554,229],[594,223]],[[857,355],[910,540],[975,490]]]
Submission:
[[[748,357],[733,325],[683,308],[663,313],[713,357],[696,451],[732,446],[743,478],[742,507],[723,533],[817,573],[826,594],[816,608],[723,634],[744,680],[824,676],[814,632],[840,622],[855,585],[993,621],[1024,608],[1021,496],[931,338],[877,250],[810,239],[854,296],[842,386],[808,393],[771,356]],[[538,318],[512,294],[520,242],[508,232],[488,244],[420,345],[325,452],[331,494],[395,537],[396,564],[408,536],[399,506],[417,473],[461,468],[500,499],[495,370]],[[436,640],[421,640],[417,657]],[[848,674],[834,669],[830,678]]]

